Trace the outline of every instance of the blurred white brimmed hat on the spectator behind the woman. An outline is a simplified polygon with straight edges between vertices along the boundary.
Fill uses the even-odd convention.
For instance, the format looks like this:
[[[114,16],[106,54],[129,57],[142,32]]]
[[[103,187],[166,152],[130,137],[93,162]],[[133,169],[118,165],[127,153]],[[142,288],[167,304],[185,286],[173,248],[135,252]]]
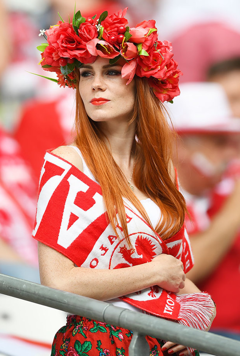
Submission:
[[[220,84],[184,83],[180,92],[173,104],[164,105],[175,131],[180,134],[240,132],[240,118],[233,117]]]

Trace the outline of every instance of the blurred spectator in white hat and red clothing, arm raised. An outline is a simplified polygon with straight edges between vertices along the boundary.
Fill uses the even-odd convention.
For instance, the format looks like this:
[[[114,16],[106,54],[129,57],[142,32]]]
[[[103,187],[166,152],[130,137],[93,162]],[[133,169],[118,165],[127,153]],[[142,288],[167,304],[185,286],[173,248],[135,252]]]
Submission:
[[[169,104],[177,140],[176,162],[195,266],[188,277],[212,295],[211,330],[240,339],[240,176],[224,178],[238,155],[240,120],[216,83],[185,83]],[[218,199],[216,199],[218,197]]]

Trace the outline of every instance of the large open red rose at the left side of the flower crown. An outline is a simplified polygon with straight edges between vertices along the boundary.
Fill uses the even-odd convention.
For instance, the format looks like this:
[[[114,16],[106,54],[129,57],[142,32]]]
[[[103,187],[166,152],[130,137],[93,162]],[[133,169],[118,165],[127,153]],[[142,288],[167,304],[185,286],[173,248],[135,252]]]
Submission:
[[[56,48],[60,57],[76,58],[82,63],[91,63],[95,59],[70,23],[61,22],[58,30],[49,35],[48,43]]]

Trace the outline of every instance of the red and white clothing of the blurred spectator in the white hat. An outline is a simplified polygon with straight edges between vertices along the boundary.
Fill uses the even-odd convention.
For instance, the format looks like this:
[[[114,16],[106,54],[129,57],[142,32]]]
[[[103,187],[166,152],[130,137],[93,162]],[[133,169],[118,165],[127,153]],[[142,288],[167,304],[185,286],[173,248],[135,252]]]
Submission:
[[[191,235],[207,229],[211,219],[218,213],[233,187],[234,179],[227,177],[208,197],[197,198],[183,192],[192,219],[190,221],[186,216],[190,238]],[[217,314],[211,330],[240,333],[240,231],[219,265],[197,286],[202,291],[207,291],[217,305]]]

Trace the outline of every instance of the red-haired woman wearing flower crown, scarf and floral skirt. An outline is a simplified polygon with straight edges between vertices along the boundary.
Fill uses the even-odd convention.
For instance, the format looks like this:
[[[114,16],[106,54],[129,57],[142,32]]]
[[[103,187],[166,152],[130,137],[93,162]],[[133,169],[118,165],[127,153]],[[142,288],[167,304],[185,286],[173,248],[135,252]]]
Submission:
[[[214,303],[185,280],[185,201],[159,101],[179,94],[180,71],[170,43],[157,41],[155,21],[129,28],[125,12],[96,21],[77,12],[73,25],[46,31],[39,48],[43,68],[76,87],[76,140],[47,152],[41,172],[33,233],[41,282],[205,330]],[[131,336],[68,316],[52,355],[127,355]],[[195,353],[146,339],[151,355]]]

